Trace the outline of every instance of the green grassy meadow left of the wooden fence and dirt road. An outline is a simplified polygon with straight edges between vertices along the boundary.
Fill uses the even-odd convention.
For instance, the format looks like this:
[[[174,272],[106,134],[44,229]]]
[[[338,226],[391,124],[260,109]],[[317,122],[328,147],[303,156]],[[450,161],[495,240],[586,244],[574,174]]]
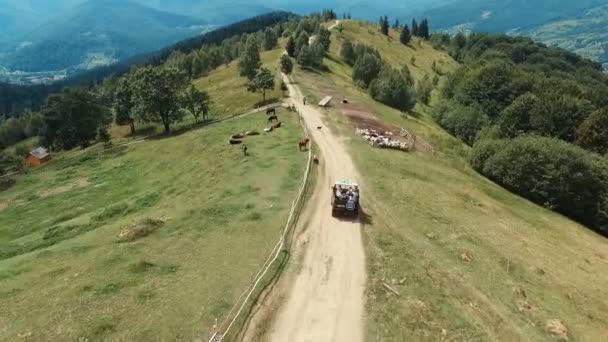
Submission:
[[[244,140],[247,158],[228,138],[261,132],[263,113],[55,160],[0,193],[0,340],[206,337],[302,179],[297,116],[278,114],[282,128]]]

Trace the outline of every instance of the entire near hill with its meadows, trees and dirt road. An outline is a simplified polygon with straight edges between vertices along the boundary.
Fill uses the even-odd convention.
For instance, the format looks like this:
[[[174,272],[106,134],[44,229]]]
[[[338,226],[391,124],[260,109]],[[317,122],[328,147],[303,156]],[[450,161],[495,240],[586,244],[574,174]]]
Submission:
[[[339,16],[236,23],[0,122],[0,340],[601,341],[597,63]]]

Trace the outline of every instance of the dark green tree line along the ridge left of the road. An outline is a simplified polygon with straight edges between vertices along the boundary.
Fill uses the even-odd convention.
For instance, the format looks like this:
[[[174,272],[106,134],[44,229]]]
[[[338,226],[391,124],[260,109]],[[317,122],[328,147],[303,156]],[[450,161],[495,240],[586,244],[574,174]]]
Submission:
[[[245,27],[240,30],[260,28],[256,18],[242,22]],[[270,18],[274,16],[270,15]],[[162,62],[157,59],[154,63],[133,66],[130,71],[122,75],[113,74],[98,84],[64,88],[49,95],[38,111],[0,120],[0,148],[5,149],[36,136],[42,145],[54,150],[87,147],[94,142],[108,141],[108,129],[113,123],[128,125],[131,134],[135,134],[137,124],[147,123],[158,123],[165,132],[169,132],[185,115],[191,115],[195,122],[206,121],[211,99],[208,93],[192,84],[192,79],[244,56],[249,46],[259,46],[264,50],[276,48],[283,32],[289,28],[295,30],[298,26],[298,18],[290,18],[289,22],[274,18],[270,22],[278,23],[273,26],[261,27],[252,33],[235,34],[200,48],[188,45],[192,48],[188,53],[174,50]],[[224,37],[226,32],[237,31],[238,25],[233,24],[220,31],[224,33],[215,33],[212,37]],[[259,50],[257,56],[259,62]],[[274,83],[272,74],[270,80]],[[265,96],[265,87],[267,85],[263,82],[255,83],[254,91]],[[17,150],[0,153],[0,171],[20,169],[27,151]]]

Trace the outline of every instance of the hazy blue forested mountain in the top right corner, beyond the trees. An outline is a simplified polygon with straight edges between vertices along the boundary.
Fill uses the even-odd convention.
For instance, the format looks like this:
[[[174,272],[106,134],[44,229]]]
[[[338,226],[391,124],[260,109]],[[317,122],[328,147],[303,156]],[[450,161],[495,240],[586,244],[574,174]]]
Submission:
[[[608,62],[608,5],[602,0],[457,0],[422,13],[440,30],[524,35]]]

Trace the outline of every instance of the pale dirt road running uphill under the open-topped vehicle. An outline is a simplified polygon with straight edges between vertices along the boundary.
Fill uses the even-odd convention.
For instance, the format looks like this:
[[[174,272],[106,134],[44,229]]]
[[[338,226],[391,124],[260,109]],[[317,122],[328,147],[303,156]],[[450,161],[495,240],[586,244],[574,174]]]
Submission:
[[[298,107],[319,148],[324,168],[318,200],[298,244],[305,248],[299,273],[272,325],[270,340],[348,341],[363,340],[365,256],[358,222],[332,217],[330,185],[358,179],[353,161],[338,137],[324,126],[314,104],[302,104],[299,88],[288,83],[291,100]],[[362,189],[365,191],[364,189]],[[362,193],[365,196],[365,192]],[[300,251],[301,252],[301,251]]]

